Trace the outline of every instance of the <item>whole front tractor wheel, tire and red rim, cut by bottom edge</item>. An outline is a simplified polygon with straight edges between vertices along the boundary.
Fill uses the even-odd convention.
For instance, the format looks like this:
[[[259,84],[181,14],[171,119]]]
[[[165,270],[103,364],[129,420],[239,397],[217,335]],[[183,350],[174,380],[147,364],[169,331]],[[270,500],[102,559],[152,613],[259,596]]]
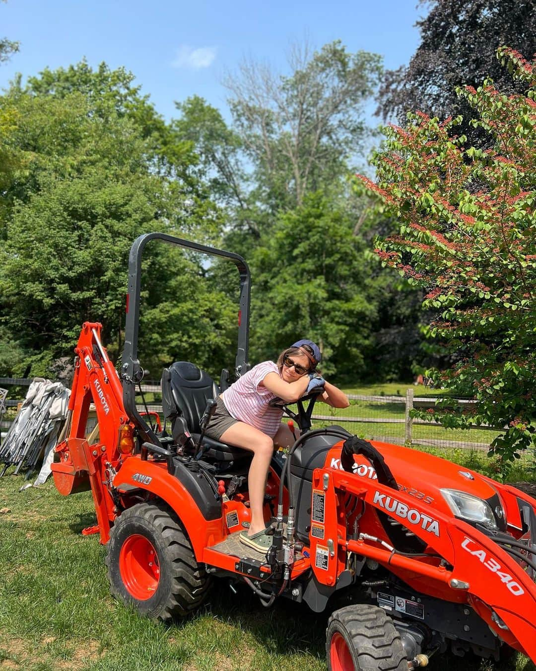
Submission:
[[[326,654],[330,671],[407,671],[400,635],[377,606],[356,604],[328,620]]]

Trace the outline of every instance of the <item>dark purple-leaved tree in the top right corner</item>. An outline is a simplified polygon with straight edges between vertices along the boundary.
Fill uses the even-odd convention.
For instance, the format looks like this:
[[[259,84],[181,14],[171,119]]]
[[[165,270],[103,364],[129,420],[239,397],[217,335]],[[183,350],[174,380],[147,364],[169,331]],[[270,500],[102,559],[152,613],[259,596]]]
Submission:
[[[523,92],[523,83],[500,68],[495,53],[501,44],[523,54],[536,52],[536,5],[519,0],[419,0],[419,4],[430,5],[427,17],[416,24],[421,44],[409,66],[385,72],[378,112],[399,123],[417,109],[440,119],[461,114],[460,133],[473,144],[482,142],[482,133],[469,123],[470,105],[456,96],[455,89],[476,87],[491,77],[505,94]]]

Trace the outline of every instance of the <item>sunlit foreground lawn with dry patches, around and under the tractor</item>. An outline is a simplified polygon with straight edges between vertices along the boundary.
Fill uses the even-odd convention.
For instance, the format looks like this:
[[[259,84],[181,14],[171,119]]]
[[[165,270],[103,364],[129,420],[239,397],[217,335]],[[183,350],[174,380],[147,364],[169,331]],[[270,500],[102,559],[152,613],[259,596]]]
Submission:
[[[186,621],[141,619],[111,598],[98,536],[80,535],[94,523],[90,493],[65,499],[52,479],[19,493],[21,484],[9,472],[0,480],[0,510],[9,510],[0,513],[0,669],[326,669],[327,613],[286,600],[266,610],[249,589],[234,595],[224,580]],[[430,668],[462,663],[490,668],[450,656],[433,658]],[[519,656],[517,671],[535,667]]]

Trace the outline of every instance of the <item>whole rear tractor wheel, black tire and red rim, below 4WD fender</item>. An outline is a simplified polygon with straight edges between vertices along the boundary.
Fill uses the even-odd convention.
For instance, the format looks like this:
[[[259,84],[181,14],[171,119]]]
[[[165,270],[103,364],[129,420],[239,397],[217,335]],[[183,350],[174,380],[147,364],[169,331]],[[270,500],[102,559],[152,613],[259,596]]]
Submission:
[[[164,503],[138,503],[119,515],[106,564],[112,595],[145,617],[185,617],[210,588],[188,536]]]

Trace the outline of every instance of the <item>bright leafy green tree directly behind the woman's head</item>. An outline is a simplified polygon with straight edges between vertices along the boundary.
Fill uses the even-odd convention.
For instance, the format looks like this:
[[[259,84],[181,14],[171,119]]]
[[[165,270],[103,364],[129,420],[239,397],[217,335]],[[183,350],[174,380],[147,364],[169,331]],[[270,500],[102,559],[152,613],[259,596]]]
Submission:
[[[252,361],[272,358],[298,338],[322,348],[322,370],[355,380],[371,350],[363,245],[353,223],[321,193],[282,214],[251,260]]]

